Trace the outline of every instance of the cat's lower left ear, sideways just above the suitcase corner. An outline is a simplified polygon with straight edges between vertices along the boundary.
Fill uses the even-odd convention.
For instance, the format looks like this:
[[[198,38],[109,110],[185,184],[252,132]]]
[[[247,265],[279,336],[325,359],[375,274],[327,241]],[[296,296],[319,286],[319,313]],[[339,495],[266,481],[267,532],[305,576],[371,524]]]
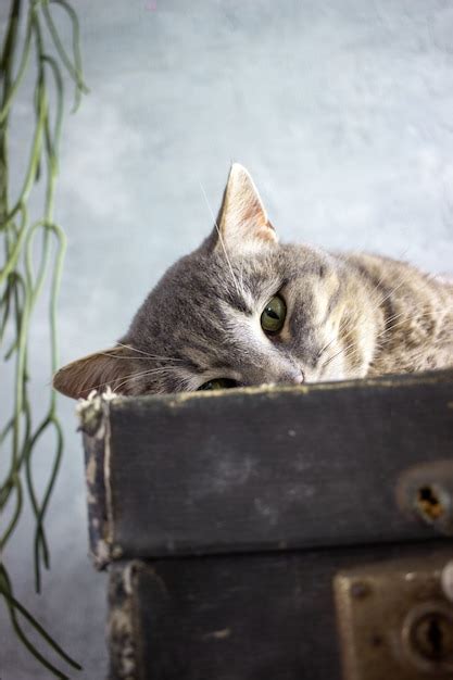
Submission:
[[[110,386],[114,392],[130,393],[134,374],[133,348],[117,345],[88,354],[60,368],[53,376],[55,390],[73,399],[87,398],[91,390],[104,392]]]

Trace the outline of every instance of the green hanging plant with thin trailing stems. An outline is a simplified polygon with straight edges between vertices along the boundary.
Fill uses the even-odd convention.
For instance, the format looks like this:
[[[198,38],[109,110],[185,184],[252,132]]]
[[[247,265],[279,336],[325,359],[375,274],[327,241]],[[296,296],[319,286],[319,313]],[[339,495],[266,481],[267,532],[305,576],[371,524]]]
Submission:
[[[53,12],[65,14],[71,22],[72,46],[66,50],[54,22]],[[62,14],[63,17],[63,14]],[[33,68],[35,65],[35,68]],[[33,129],[29,133],[28,164],[16,196],[12,194],[9,159],[10,121],[24,76],[35,78],[32,96]],[[66,678],[32,642],[23,628],[26,620],[59,656],[74,668],[79,666],[52,640],[38,621],[14,596],[14,584],[8,571],[7,547],[14,538],[26,499],[35,518],[33,562],[35,584],[39,592],[42,566],[49,568],[49,546],[45,517],[55,484],[62,452],[63,433],[55,410],[55,394],[49,388],[49,403],[42,420],[35,423],[28,382],[33,366],[28,356],[29,328],[37,301],[50,287],[50,369],[56,368],[55,305],[65,250],[65,237],[53,219],[55,181],[59,171],[59,144],[64,108],[64,74],[75,84],[74,109],[87,91],[81,75],[79,26],[76,12],[66,0],[12,0],[2,43],[0,91],[0,351],[14,370],[11,412],[1,411],[0,452],[8,471],[0,487],[0,600],[3,600],[11,624],[23,644],[55,677]],[[30,218],[29,201],[36,185],[43,193],[38,218]],[[35,241],[39,239],[38,252]],[[49,376],[50,382],[50,376]],[[4,404],[4,407],[7,404]],[[8,412],[7,412],[8,413]],[[33,456],[45,432],[53,430],[54,451],[48,481],[41,496],[37,493]],[[36,635],[34,637],[36,639]]]

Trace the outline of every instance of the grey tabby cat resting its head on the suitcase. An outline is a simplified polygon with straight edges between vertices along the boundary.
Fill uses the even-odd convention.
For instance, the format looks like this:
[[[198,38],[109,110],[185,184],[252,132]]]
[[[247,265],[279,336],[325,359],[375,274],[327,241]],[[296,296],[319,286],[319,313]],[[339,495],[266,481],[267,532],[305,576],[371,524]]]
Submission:
[[[85,398],[300,385],[453,365],[453,282],[361,252],[280,244],[235,163],[215,228],[149,293],[117,344],[61,368]]]

